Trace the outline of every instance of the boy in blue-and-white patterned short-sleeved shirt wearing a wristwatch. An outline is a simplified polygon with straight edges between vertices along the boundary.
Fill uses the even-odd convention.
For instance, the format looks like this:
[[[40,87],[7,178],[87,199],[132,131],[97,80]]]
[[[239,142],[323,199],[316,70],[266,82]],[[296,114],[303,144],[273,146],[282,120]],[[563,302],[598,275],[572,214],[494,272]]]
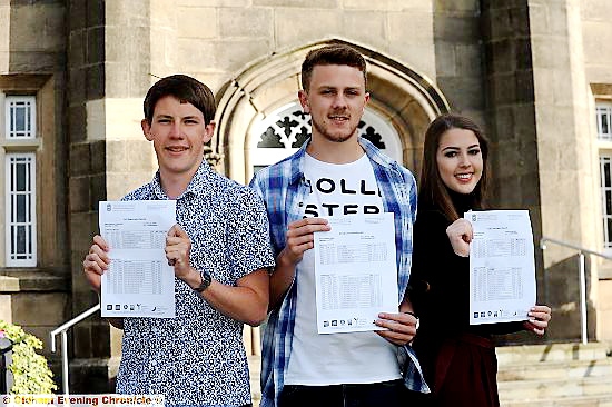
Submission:
[[[204,83],[175,75],[145,98],[142,132],[159,170],[126,200],[176,199],[166,238],[174,265],[176,318],[111,320],[124,329],[120,394],[162,394],[170,406],[248,406],[243,324],[259,325],[268,307],[274,259],[260,199],[214,172],[204,145],[215,129],[215,98]],[[83,270],[100,291],[111,247],[93,238]]]

